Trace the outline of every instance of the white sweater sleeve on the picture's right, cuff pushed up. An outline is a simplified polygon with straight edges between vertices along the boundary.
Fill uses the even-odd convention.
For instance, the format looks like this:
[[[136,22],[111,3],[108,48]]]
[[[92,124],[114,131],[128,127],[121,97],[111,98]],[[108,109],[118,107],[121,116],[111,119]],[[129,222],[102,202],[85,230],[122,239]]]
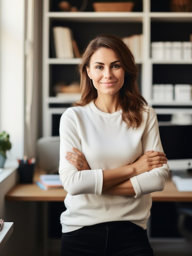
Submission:
[[[147,112],[144,111],[144,116],[146,116],[146,119],[142,136],[143,153],[148,150],[162,152],[163,147],[159,135],[157,115],[154,109],[149,108]],[[151,171],[131,177],[130,181],[136,193],[135,197],[163,190],[168,176],[169,166],[168,164],[163,164],[162,167],[154,168]]]

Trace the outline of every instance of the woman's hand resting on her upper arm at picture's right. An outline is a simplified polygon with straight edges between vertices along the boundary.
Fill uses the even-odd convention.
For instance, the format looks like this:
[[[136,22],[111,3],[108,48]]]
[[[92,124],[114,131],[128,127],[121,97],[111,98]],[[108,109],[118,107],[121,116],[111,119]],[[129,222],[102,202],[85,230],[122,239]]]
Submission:
[[[159,151],[147,151],[144,155],[139,157],[133,164],[132,167],[135,168],[135,175],[150,171],[154,168],[163,166],[167,164],[166,154]]]

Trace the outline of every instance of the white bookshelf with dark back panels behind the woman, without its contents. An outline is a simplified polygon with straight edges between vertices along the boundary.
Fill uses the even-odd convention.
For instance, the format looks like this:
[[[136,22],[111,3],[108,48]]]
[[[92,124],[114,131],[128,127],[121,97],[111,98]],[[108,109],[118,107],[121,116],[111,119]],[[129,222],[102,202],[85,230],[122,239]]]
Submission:
[[[76,2],[79,4],[78,0]],[[132,12],[95,12],[91,7],[92,2],[88,1],[89,7],[83,12],[63,12],[57,8],[57,1],[43,0],[43,136],[53,135],[51,127],[53,120],[56,120],[54,114],[57,114],[58,121],[67,104],[79,99],[77,94],[55,97],[55,84],[78,81],[76,67],[80,58],[55,57],[54,39],[51,35],[54,26],[69,27],[73,31],[79,52],[97,34],[117,34],[122,38],[142,34],[143,55],[136,58],[141,94],[149,104],[157,107],[155,109],[158,114],[166,114],[166,111],[175,113],[176,109],[192,113],[192,101],[153,100],[154,84],[192,84],[192,58],[152,59],[151,51],[152,42],[189,41],[192,34],[192,13],[171,12],[167,0],[137,0],[138,6]]]

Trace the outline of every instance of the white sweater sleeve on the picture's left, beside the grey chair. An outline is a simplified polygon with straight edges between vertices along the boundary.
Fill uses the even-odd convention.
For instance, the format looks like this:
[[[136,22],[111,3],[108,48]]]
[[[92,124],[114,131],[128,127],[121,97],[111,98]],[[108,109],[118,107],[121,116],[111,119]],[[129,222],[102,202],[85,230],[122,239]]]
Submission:
[[[60,119],[60,180],[64,189],[71,195],[97,194],[101,195],[103,172],[98,170],[78,171],[65,159],[66,152],[72,147],[82,151],[78,128],[80,120],[75,112],[68,108]]]

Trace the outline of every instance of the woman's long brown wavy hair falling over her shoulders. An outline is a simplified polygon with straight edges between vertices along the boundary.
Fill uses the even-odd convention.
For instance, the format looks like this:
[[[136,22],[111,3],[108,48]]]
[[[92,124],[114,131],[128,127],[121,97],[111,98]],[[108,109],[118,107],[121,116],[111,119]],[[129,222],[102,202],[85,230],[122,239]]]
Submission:
[[[107,34],[96,36],[86,47],[81,63],[78,65],[82,97],[74,106],[85,106],[97,98],[97,90],[87,75],[86,66],[89,67],[91,56],[101,47],[112,49],[124,67],[124,85],[120,89],[122,119],[128,127],[138,128],[142,121],[141,110],[143,110],[143,105],[147,105],[147,102],[140,94],[137,85],[138,67],[135,64],[135,58],[126,43],[118,36]]]

